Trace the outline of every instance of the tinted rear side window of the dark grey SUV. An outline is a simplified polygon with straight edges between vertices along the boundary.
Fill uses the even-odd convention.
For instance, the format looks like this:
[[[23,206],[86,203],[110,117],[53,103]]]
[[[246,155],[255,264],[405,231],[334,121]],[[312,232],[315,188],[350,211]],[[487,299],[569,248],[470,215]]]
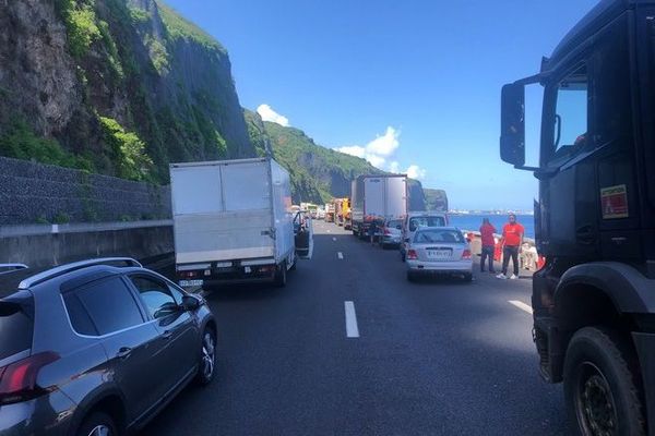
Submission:
[[[119,277],[67,292],[63,300],[81,335],[107,335],[143,323],[136,301]]]

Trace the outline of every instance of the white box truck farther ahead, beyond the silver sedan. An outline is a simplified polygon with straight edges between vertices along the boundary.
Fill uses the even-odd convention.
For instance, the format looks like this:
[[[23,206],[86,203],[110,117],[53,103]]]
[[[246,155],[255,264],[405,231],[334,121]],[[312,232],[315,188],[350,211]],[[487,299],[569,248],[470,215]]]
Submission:
[[[372,221],[407,215],[405,174],[360,175],[353,181],[350,194],[355,235],[366,235]]]

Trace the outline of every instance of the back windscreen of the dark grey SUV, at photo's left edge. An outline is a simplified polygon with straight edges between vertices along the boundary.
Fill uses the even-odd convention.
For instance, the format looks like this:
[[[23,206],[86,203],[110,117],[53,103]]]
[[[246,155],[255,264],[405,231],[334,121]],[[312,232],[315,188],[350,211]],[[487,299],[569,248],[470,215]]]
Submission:
[[[0,360],[31,349],[33,328],[25,307],[0,302]]]

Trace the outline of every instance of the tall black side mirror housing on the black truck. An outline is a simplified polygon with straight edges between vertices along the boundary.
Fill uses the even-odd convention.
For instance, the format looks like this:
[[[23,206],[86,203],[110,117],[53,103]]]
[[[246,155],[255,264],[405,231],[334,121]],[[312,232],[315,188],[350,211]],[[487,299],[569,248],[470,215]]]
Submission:
[[[502,87],[500,116],[500,158],[514,167],[525,165],[525,86]]]

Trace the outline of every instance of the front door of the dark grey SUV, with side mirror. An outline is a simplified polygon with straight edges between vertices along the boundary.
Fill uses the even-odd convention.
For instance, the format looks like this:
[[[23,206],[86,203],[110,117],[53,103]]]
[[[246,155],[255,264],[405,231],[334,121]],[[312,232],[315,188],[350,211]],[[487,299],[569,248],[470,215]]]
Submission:
[[[166,374],[163,395],[169,393],[195,370],[200,331],[192,313],[181,308],[181,293],[148,274],[128,276],[147,315],[155,320],[162,354],[158,365]],[[177,292],[179,295],[174,294]]]

